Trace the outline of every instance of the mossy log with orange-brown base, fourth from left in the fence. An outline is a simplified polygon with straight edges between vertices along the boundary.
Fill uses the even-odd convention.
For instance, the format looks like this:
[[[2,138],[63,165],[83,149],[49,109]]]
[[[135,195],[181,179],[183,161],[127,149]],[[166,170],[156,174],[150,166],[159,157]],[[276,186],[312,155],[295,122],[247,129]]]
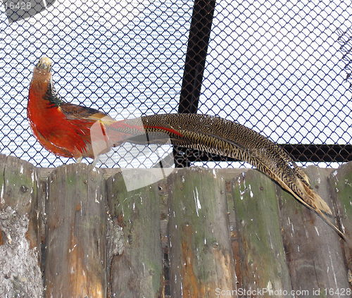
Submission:
[[[168,187],[172,297],[235,297],[225,180],[186,168],[169,176]]]

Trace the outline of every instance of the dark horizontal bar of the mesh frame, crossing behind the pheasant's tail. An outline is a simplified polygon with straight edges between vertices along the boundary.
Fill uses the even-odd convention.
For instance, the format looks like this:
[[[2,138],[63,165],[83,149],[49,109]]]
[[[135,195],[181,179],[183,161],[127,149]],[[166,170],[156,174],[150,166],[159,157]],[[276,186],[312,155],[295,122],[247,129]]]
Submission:
[[[279,144],[294,159],[300,162],[339,162],[352,161],[350,144]],[[230,157],[208,154],[207,152],[177,147],[177,163],[184,161],[238,161]],[[183,161],[181,160],[183,159]]]

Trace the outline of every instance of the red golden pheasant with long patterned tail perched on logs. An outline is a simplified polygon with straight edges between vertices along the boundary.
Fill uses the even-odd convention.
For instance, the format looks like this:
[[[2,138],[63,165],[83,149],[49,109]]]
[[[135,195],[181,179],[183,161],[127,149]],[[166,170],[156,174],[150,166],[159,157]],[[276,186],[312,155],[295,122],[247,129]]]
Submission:
[[[244,125],[199,114],[164,114],[116,121],[94,108],[65,103],[56,92],[51,60],[46,57],[40,58],[34,67],[27,117],[34,136],[45,149],[58,156],[74,157],[78,162],[82,157],[96,159],[98,154],[123,142],[162,143],[165,134],[174,145],[246,161],[319,213],[344,237],[324,214],[332,214],[329,206],[310,187],[308,177],[289,154]]]

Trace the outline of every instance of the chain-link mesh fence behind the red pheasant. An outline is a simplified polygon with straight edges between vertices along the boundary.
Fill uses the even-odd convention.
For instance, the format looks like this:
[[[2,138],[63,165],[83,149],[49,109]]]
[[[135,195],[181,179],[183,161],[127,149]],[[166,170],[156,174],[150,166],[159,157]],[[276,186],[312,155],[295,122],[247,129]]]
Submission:
[[[49,56],[65,101],[117,120],[189,112],[181,111],[188,103],[193,113],[260,132],[303,164],[346,162],[352,159],[351,20],[351,1],[4,0],[1,153],[40,167],[73,162],[42,149],[27,123],[32,70]],[[199,57],[200,71],[189,60]],[[185,83],[193,70],[196,104]],[[171,146],[161,147],[157,159],[132,160],[132,149],[145,150],[118,149],[115,166],[149,167],[170,154],[181,156],[180,164],[239,165]]]

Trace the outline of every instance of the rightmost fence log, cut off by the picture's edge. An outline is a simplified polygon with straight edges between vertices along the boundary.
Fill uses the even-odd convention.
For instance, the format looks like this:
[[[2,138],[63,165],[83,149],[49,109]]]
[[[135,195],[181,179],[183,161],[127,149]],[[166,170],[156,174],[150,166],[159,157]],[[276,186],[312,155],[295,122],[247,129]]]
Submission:
[[[352,162],[346,163],[329,175],[330,192],[339,216],[339,227],[345,233],[342,242],[348,282],[352,288]]]

